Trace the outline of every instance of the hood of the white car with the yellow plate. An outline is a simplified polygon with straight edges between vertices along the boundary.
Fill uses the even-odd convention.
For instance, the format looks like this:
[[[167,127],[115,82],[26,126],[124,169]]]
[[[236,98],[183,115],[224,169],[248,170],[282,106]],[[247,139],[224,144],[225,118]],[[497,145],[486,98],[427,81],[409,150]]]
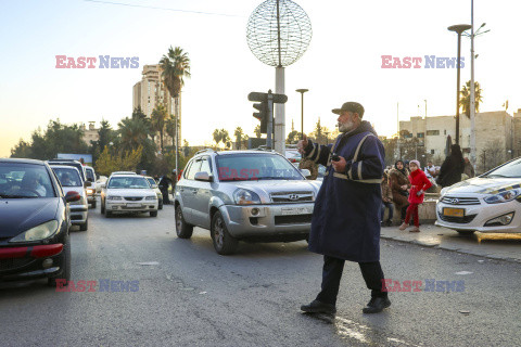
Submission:
[[[478,193],[496,194],[500,189],[520,188],[520,178],[472,178],[450,185],[445,194]],[[444,194],[444,195],[445,195]]]

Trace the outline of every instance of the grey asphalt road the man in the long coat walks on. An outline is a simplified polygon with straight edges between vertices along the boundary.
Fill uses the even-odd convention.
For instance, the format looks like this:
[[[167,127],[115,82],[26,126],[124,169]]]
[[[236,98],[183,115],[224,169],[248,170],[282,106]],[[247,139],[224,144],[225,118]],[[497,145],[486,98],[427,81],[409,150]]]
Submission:
[[[315,297],[321,277],[322,259],[305,242],[241,243],[237,255],[219,256],[208,231],[176,237],[171,206],[157,218],[105,219],[99,207],[89,218],[87,232],[72,232],[72,278],[76,284],[97,281],[96,292],[56,292],[45,281],[1,284],[1,346],[519,346],[521,340],[521,264],[382,241],[386,278],[422,281],[422,291],[390,293],[391,308],[363,314],[370,293],[358,266],[347,262],[333,319],[298,310]],[[465,281],[465,291],[425,292],[427,279]],[[115,292],[122,290],[117,281],[129,286]]]

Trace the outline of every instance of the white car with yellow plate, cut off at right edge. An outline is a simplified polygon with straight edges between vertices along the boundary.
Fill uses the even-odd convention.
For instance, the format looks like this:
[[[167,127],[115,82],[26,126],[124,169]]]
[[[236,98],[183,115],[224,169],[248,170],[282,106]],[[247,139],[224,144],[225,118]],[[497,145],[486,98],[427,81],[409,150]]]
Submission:
[[[521,158],[444,188],[436,217],[459,233],[521,233]]]

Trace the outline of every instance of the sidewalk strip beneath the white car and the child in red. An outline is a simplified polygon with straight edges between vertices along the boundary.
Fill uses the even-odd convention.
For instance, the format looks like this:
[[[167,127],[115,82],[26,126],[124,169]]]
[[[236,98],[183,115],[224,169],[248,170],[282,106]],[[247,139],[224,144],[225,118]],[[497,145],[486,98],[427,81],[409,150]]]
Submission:
[[[382,228],[381,237],[418,244],[423,247],[456,250],[491,259],[521,262],[521,234],[458,232],[433,224],[422,224],[421,232],[401,231],[398,227]]]

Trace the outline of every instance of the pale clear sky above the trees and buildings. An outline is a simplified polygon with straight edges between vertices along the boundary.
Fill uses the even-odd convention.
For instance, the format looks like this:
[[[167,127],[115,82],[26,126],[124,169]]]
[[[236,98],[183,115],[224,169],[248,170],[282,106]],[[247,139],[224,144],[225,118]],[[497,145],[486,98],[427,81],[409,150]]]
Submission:
[[[259,62],[246,42],[250,14],[262,1],[102,1],[0,0],[0,157],[50,119],[98,126],[104,118],[117,128],[131,115],[142,66],[156,64],[170,46],[191,61],[192,77],[182,90],[183,139],[209,144],[214,129],[232,136],[237,127],[254,136],[258,120],[247,94],[275,90],[275,67]],[[285,68],[287,132],[292,120],[301,129],[300,88],[309,89],[305,132],[319,118],[334,129],[331,110],[346,101],[360,102],[364,119],[383,136],[396,132],[397,117],[424,116],[425,103],[428,116],[455,114],[456,68],[424,68],[424,55],[457,56],[457,35],[447,27],[470,24],[470,0],[295,2],[310,18],[313,38]],[[521,108],[519,13],[519,1],[474,0],[474,27],[486,23],[491,30],[474,41],[482,112],[505,110],[506,100],[509,114]],[[56,68],[56,55],[137,56],[139,68]],[[423,61],[421,68],[382,68],[382,55]],[[470,80],[466,37],[461,56],[463,85]]]

